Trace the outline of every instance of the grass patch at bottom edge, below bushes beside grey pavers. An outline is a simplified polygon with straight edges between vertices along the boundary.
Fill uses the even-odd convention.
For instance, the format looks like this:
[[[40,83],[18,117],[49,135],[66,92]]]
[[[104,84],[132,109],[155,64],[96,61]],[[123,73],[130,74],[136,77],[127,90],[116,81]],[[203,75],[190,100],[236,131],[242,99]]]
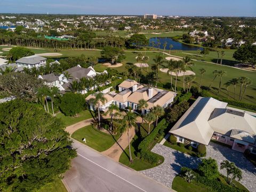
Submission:
[[[177,192],[207,192],[209,189],[195,185],[194,183],[188,183],[180,176],[176,176],[172,181],[172,189]]]

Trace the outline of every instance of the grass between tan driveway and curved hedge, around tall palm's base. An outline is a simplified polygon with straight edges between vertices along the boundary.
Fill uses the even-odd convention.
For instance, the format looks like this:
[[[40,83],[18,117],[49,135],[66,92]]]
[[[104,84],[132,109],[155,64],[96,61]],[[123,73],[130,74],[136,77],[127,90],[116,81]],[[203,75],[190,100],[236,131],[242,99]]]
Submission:
[[[137,134],[135,134],[134,138],[131,141],[131,153],[132,153],[133,162],[131,163],[129,161],[129,147],[127,147],[125,151],[122,153],[121,157],[119,158],[119,162],[126,166],[129,166],[130,168],[136,171],[146,170],[146,169],[150,169],[157,166],[157,165],[152,165],[146,161],[143,161],[143,159],[140,159],[136,156],[139,143],[141,142],[141,139],[138,137]],[[162,156],[160,157],[162,158],[162,163],[163,163],[164,158]]]

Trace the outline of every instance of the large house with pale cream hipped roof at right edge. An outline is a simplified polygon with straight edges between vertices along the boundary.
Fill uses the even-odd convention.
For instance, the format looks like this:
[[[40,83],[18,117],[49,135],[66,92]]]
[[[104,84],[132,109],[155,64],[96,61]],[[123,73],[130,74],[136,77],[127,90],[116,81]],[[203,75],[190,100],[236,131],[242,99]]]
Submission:
[[[256,117],[227,109],[227,104],[213,98],[199,97],[170,133],[177,137],[177,142],[192,147],[197,147],[199,143],[207,146],[213,139],[242,153],[250,149],[256,154]]]

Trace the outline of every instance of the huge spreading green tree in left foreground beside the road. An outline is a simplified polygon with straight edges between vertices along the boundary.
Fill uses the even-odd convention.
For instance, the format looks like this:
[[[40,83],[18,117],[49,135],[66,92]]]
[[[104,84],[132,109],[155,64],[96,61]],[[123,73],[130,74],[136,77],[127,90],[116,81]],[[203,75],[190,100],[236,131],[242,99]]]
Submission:
[[[18,99],[0,119],[0,191],[34,191],[69,169],[76,151],[60,119]]]

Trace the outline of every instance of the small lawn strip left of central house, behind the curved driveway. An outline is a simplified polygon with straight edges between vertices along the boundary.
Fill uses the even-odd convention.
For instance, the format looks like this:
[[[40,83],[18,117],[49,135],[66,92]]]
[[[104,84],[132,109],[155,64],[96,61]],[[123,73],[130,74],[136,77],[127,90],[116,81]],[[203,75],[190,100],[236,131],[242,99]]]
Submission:
[[[65,116],[61,112],[56,115],[57,118],[60,118],[64,123],[65,126],[73,125],[75,123],[81,122],[85,119],[93,118],[92,114],[93,112],[90,112],[89,110],[83,110],[78,114],[78,117],[70,117]]]

